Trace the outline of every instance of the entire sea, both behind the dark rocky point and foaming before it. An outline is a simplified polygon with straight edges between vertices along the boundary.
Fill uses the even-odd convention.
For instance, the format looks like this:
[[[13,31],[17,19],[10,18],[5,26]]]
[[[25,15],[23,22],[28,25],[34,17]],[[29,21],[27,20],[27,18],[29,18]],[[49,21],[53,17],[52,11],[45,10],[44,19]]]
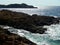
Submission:
[[[1,8],[16,12],[23,12],[29,15],[37,14],[43,16],[57,16],[60,17],[60,6],[45,7],[45,8]],[[51,24],[50,26],[44,25],[43,28],[47,28],[46,34],[31,33],[23,29],[16,29],[9,26],[1,26],[4,29],[8,29],[11,33],[17,34],[21,37],[25,37],[28,40],[36,43],[37,45],[60,45],[60,23]]]

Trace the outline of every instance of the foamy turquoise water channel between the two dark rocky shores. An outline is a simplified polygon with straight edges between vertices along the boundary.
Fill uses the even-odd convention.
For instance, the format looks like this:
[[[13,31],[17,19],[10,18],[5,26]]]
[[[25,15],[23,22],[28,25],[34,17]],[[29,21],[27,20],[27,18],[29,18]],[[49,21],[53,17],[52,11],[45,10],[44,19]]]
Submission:
[[[47,28],[46,34],[31,33],[23,29],[15,29],[9,26],[2,27],[8,29],[11,33],[26,37],[37,45],[60,45],[60,24],[43,26],[43,28]]]

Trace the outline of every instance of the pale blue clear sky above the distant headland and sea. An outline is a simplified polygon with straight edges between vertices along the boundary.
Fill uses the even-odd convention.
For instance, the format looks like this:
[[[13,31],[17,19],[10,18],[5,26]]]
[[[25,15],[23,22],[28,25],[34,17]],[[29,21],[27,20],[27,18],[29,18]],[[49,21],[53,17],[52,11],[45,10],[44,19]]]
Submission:
[[[0,0],[0,4],[21,4],[26,3],[36,7],[40,6],[60,6],[60,0]]]

